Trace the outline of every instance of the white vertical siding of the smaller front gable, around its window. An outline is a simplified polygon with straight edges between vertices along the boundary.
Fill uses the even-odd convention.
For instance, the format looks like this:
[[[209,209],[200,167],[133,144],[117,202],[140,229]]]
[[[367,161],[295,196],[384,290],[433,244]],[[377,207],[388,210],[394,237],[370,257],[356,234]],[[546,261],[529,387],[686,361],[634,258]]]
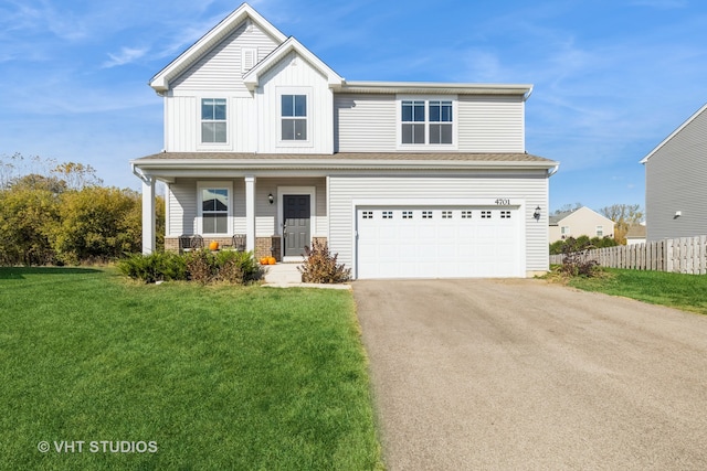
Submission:
[[[277,88],[300,87],[307,92],[309,143],[278,143],[279,100]],[[258,152],[334,153],[334,94],[326,77],[298,54],[291,53],[261,78],[257,101]]]

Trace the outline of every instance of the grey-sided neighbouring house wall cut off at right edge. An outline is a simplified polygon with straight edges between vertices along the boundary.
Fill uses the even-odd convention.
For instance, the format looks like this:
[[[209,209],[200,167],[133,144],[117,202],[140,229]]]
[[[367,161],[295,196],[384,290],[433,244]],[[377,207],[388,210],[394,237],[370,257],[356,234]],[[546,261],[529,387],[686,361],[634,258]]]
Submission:
[[[641,163],[647,240],[707,235],[707,105]]]

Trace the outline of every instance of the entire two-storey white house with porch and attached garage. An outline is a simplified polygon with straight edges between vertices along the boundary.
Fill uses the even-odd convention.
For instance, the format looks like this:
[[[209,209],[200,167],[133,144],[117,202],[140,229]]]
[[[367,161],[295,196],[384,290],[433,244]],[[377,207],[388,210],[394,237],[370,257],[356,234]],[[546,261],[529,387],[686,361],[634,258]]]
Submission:
[[[326,240],[355,278],[548,269],[548,179],[525,149],[529,85],[348,82],[242,4],[150,81],[165,150],[133,160],[144,251],[245,236],[302,261]]]

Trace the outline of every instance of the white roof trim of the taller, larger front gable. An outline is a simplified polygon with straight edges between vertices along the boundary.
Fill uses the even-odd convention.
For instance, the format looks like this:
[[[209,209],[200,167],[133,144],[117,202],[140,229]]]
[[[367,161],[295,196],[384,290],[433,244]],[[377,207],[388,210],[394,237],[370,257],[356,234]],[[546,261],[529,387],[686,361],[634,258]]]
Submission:
[[[189,66],[196,63],[203,54],[219,44],[244,21],[252,21],[257,24],[261,30],[273,36],[278,43],[284,42],[287,38],[277,28],[273,26],[267,20],[261,17],[261,14],[250,4],[242,3],[219,24],[213,26],[207,34],[201,36],[199,41],[192,44],[187,51],[181,53],[177,58],[150,78],[150,87],[158,93],[167,92],[169,89],[170,79],[177,77]]]

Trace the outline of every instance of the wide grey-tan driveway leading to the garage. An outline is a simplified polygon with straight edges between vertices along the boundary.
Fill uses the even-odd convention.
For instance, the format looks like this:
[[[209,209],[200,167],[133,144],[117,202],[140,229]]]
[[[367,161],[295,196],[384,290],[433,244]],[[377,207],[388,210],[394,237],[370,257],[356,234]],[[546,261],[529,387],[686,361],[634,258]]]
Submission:
[[[707,317],[541,280],[354,295],[391,470],[707,469]]]

